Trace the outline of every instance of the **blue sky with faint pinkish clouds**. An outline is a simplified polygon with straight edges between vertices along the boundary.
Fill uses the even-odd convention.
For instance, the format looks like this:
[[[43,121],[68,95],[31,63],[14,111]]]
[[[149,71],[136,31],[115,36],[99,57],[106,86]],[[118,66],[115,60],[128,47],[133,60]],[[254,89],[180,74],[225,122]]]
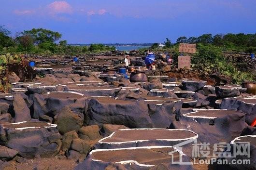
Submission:
[[[256,0],[0,0],[0,25],[46,28],[68,43],[172,42],[256,33]]]

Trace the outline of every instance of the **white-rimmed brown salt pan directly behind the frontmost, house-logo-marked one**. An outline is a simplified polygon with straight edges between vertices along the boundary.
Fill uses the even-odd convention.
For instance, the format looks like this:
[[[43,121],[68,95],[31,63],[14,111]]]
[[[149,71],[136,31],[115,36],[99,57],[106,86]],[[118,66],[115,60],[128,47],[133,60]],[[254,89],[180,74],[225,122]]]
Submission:
[[[125,148],[140,146],[172,146],[189,139],[197,139],[198,134],[182,129],[122,129],[101,139],[96,148]]]

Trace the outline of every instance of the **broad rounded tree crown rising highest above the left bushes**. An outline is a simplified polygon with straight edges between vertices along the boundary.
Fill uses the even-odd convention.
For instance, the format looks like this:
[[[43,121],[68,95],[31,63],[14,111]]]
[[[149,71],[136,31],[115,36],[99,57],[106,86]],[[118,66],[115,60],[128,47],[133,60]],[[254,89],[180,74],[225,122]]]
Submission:
[[[51,42],[54,43],[58,39],[61,38],[61,34],[58,32],[54,32],[51,30],[43,29],[43,28],[38,28],[38,29],[31,29],[31,30],[25,30],[22,32],[22,35],[30,35],[34,43],[40,44],[44,42]]]

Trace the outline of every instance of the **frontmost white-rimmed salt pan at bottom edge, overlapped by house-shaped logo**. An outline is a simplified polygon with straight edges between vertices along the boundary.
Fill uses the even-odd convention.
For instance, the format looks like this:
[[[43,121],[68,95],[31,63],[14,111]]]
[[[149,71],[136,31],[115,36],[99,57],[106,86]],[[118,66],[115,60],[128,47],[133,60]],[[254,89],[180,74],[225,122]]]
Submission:
[[[165,164],[170,170],[192,170],[191,165],[171,164],[172,158],[178,162],[180,156],[189,162],[187,156],[171,146],[96,149],[75,170],[106,170],[110,163],[114,166],[123,164],[128,170],[149,170],[159,164]]]

